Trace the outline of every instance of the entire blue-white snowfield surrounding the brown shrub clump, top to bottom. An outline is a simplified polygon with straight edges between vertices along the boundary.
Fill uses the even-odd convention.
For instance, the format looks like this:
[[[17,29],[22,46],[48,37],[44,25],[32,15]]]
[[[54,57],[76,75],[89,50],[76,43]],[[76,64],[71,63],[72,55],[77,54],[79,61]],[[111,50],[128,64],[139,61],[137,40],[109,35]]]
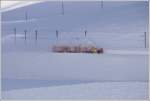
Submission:
[[[148,3],[65,2],[64,15],[61,3],[3,11],[2,98],[148,99]],[[104,54],[53,53],[55,44]]]

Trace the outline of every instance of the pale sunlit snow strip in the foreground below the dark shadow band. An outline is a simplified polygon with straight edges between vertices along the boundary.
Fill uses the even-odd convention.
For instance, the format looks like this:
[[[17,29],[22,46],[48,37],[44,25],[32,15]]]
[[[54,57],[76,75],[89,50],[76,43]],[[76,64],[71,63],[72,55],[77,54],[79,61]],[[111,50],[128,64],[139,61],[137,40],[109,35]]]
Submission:
[[[148,99],[147,82],[96,82],[4,91],[3,99]]]

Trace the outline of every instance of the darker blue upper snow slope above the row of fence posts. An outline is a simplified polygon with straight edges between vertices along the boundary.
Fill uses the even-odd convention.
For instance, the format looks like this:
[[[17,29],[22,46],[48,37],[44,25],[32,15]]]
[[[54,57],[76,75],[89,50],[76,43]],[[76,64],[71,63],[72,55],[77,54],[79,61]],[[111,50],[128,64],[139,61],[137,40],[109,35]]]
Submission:
[[[61,14],[61,2],[45,2],[4,12],[2,20],[4,23],[5,21],[25,20],[25,12],[27,11],[29,19],[35,18],[38,19],[38,22],[21,23],[19,25],[22,25],[22,29],[26,27],[30,29],[32,26],[32,29],[48,28],[50,30],[60,29],[65,31],[76,29],[80,31],[90,30],[93,29],[92,27],[97,26],[93,29],[94,31],[122,31],[119,27],[123,28],[123,32],[125,30],[130,31],[130,29],[136,32],[147,31],[148,16],[142,12],[145,10],[148,12],[146,2],[106,2],[103,9],[100,7],[100,2],[96,1],[65,2],[64,6],[64,15]],[[120,24],[122,25],[120,26]],[[14,25],[20,29],[18,24]],[[133,25],[136,25],[136,27]],[[10,25],[7,26],[10,27]]]

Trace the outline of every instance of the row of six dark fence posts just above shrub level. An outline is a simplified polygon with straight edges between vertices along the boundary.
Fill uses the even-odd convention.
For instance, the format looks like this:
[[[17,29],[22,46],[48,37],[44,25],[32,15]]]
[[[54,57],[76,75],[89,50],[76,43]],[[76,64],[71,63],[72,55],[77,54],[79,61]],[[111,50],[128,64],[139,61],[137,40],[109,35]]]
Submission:
[[[14,28],[14,36],[15,36],[15,43],[16,43],[16,35],[17,35],[17,30]],[[87,30],[84,31],[84,36],[87,37]],[[147,39],[146,39],[146,32],[144,32],[144,47],[147,48]],[[24,30],[24,39],[27,40],[27,30]],[[56,30],[56,39],[59,39],[59,31]],[[35,30],[35,40],[38,40],[38,30]]]

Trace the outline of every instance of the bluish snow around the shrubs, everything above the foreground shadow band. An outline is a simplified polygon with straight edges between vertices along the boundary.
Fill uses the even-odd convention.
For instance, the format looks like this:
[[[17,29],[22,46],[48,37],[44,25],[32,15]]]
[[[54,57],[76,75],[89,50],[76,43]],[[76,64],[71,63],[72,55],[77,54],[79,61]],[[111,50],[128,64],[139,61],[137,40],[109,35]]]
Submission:
[[[105,2],[103,8],[98,1],[64,2],[64,15],[61,3],[43,2],[2,13],[3,78],[148,80],[148,49],[143,36],[148,25],[147,2]],[[60,31],[58,40],[56,29]],[[103,47],[105,54],[50,52],[54,44],[76,42]],[[63,72],[58,72],[59,68]]]

